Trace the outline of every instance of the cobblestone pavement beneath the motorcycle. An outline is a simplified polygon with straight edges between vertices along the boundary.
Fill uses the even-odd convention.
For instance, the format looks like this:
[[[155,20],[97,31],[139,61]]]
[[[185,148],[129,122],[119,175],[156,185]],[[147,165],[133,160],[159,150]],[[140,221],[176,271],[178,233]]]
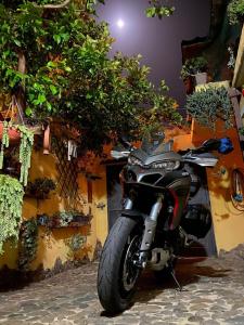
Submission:
[[[18,324],[244,324],[244,249],[196,262],[181,260],[172,282],[147,272],[132,308],[108,317],[98,301],[98,263],[65,271],[22,289],[0,294],[0,323]]]

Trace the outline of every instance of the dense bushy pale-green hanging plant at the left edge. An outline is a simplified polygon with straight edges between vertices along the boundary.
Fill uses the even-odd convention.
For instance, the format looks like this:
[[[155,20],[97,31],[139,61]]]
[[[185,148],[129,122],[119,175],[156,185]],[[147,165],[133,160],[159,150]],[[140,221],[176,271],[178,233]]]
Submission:
[[[0,253],[3,243],[18,239],[24,190],[18,180],[0,174]]]

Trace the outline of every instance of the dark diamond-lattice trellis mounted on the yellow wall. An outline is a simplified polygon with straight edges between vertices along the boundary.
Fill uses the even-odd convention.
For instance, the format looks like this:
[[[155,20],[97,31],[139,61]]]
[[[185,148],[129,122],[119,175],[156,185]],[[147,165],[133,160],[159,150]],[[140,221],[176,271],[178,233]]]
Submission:
[[[61,197],[65,198],[69,208],[78,208],[82,204],[82,198],[78,193],[77,184],[77,159],[68,160],[67,141],[52,140],[52,147],[59,159],[56,165],[59,171],[57,191]]]

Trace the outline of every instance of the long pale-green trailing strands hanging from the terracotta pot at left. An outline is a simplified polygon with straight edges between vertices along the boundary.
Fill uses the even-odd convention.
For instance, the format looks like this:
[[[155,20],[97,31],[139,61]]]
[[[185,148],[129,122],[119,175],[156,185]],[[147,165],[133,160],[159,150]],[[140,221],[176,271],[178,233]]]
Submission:
[[[0,169],[3,167],[3,156],[4,148],[8,148],[10,145],[10,135],[9,130],[15,129],[21,134],[21,144],[20,144],[20,162],[21,167],[21,177],[20,182],[26,186],[28,180],[28,170],[30,167],[30,157],[34,144],[34,133],[25,126],[13,125],[12,121],[3,122],[3,132],[2,132],[2,143],[1,143],[1,152],[0,152]]]

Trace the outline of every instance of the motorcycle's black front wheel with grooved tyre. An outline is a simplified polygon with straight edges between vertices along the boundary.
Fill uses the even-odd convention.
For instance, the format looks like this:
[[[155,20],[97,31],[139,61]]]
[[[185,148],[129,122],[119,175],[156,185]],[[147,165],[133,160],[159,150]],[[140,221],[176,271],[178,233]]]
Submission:
[[[139,220],[120,217],[104,244],[98,272],[98,294],[105,311],[123,312],[131,304],[141,270],[134,260],[142,240]]]

